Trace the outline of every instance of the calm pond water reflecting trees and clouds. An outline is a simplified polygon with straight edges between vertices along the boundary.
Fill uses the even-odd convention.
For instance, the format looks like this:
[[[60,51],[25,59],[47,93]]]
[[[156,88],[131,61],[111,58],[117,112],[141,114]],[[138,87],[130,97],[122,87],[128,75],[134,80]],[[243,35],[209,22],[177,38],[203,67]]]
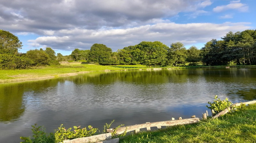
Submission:
[[[232,102],[256,99],[256,68],[203,68],[89,73],[0,84],[0,142],[20,142],[37,123],[103,130],[105,123],[134,125],[201,117],[214,95]]]

